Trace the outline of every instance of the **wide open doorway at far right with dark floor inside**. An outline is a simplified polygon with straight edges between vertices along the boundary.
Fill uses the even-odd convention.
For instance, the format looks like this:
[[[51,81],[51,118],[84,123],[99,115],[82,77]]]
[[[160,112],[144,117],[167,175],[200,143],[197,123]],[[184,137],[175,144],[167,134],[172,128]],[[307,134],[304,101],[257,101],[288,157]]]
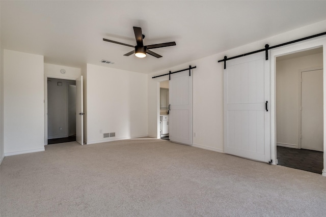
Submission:
[[[281,166],[322,173],[322,47],[276,58],[276,154]]]

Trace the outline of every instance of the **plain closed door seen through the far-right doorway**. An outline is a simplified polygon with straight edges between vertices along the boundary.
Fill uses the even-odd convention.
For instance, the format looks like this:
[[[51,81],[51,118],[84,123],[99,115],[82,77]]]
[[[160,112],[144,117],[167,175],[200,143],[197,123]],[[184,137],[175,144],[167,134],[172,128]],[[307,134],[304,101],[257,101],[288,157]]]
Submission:
[[[323,151],[323,70],[301,74],[301,148]]]

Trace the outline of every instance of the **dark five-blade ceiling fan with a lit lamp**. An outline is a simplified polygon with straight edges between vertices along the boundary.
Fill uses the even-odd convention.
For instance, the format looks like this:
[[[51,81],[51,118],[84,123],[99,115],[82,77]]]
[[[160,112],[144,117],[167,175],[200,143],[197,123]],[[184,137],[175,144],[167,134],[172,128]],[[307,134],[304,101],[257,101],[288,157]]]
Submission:
[[[145,57],[147,53],[152,55],[152,56],[155,56],[157,58],[162,57],[161,55],[159,55],[157,53],[154,53],[153,51],[151,51],[149,49],[154,49],[154,48],[159,48],[159,47],[169,47],[169,46],[176,45],[175,42],[167,42],[167,43],[152,44],[152,45],[144,46],[143,39],[145,38],[145,36],[142,34],[142,28],[133,26],[133,32],[134,32],[134,36],[135,36],[136,42],[137,42],[136,46],[128,45],[128,44],[121,43],[121,42],[112,41],[112,40],[109,40],[109,39],[103,39],[103,41],[112,42],[112,43],[116,43],[116,44],[121,44],[121,45],[125,45],[125,46],[128,46],[128,47],[133,47],[134,50],[130,51],[129,53],[124,54],[124,56],[130,56],[131,54],[134,53],[135,56],[140,57],[140,58]]]

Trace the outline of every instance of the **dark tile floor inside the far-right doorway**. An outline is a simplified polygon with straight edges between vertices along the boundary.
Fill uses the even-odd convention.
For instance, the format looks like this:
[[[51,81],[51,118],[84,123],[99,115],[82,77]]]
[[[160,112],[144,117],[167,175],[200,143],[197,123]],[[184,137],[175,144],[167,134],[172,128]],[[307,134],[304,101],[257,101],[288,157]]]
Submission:
[[[321,174],[323,152],[277,146],[279,165]]]

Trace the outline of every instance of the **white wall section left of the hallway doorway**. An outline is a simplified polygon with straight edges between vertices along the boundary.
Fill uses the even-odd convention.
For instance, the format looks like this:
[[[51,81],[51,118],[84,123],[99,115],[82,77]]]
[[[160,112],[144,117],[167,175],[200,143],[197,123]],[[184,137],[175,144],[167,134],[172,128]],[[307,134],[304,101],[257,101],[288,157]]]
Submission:
[[[44,150],[43,56],[4,50],[5,156]]]

